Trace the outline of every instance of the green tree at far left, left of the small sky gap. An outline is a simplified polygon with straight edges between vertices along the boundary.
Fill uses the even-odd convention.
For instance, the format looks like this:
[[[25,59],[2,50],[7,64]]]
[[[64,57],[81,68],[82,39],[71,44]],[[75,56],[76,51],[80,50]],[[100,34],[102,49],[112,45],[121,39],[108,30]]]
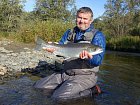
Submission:
[[[0,1],[0,31],[16,31],[20,26],[23,0]]]

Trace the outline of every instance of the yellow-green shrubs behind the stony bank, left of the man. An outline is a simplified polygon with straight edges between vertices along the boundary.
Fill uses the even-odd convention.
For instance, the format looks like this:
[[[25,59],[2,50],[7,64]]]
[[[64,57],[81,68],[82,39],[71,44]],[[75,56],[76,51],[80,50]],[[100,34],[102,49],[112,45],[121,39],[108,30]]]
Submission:
[[[26,43],[34,42],[35,36],[39,36],[46,41],[58,41],[63,33],[72,27],[72,23],[61,20],[36,20],[24,24],[16,33],[15,38]]]

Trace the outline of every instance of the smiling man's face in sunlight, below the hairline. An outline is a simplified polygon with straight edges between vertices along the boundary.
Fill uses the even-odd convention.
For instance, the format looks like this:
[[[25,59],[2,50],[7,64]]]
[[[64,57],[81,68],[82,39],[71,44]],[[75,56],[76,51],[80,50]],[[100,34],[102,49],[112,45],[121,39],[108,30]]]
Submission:
[[[84,31],[90,27],[90,24],[93,22],[90,13],[79,13],[76,17],[76,25],[77,27]]]

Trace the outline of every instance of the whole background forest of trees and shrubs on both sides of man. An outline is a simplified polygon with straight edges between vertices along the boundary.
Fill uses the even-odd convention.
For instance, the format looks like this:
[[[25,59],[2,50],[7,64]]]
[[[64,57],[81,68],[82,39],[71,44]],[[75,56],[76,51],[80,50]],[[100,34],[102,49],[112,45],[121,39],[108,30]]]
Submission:
[[[40,36],[58,41],[75,26],[75,0],[36,0],[31,12],[24,11],[25,3],[0,0],[0,38],[32,43]],[[107,49],[140,52],[140,0],[107,0],[104,8],[93,24],[105,34]]]

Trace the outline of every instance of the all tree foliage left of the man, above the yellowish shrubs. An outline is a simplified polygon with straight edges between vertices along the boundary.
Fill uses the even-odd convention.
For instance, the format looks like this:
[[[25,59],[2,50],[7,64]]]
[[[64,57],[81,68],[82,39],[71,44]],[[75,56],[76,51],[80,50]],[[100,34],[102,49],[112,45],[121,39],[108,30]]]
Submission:
[[[27,22],[58,19],[73,19],[76,11],[75,0],[36,0],[33,11],[23,10],[26,0],[0,0],[0,32],[17,32]],[[33,22],[34,21],[34,22]]]

